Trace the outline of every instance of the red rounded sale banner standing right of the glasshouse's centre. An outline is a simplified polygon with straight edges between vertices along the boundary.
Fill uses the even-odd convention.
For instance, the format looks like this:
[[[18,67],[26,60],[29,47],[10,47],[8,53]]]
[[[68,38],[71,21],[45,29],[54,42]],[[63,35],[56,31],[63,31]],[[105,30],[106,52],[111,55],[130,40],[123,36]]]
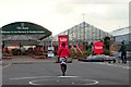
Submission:
[[[103,46],[104,44],[100,41],[94,42],[94,52],[100,54],[103,52]]]

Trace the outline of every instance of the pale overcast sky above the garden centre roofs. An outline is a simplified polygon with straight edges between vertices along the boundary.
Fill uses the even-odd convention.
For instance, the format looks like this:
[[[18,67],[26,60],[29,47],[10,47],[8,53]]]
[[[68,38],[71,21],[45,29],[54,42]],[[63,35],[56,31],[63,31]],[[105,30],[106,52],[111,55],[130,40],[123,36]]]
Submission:
[[[105,32],[129,26],[130,0],[0,0],[0,27],[32,22],[57,35],[84,21]]]

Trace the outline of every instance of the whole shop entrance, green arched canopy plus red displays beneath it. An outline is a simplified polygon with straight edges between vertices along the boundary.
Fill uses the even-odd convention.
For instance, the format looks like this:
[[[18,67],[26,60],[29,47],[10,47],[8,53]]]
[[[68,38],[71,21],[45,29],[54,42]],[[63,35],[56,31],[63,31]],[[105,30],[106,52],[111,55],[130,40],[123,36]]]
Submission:
[[[46,58],[47,48],[51,46],[52,33],[29,22],[15,22],[4,25],[1,34],[2,59],[13,59],[14,55]]]

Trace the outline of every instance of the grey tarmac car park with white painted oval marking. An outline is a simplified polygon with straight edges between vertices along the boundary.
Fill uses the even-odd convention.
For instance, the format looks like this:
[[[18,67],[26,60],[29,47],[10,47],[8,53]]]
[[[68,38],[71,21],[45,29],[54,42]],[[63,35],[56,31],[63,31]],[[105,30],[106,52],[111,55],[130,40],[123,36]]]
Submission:
[[[129,85],[128,64],[107,62],[68,63],[66,76],[61,76],[55,58],[33,59],[14,57],[2,61],[2,85]]]

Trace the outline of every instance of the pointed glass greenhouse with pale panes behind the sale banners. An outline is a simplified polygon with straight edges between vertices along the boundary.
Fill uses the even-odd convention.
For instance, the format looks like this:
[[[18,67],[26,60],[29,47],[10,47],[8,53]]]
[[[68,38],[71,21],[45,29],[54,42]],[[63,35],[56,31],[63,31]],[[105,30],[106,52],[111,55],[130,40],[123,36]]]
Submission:
[[[105,36],[111,37],[107,32],[104,32],[86,22],[82,22],[73,27],[53,36],[53,44],[58,42],[58,36],[68,35],[69,45],[94,42],[96,40],[103,40]]]

